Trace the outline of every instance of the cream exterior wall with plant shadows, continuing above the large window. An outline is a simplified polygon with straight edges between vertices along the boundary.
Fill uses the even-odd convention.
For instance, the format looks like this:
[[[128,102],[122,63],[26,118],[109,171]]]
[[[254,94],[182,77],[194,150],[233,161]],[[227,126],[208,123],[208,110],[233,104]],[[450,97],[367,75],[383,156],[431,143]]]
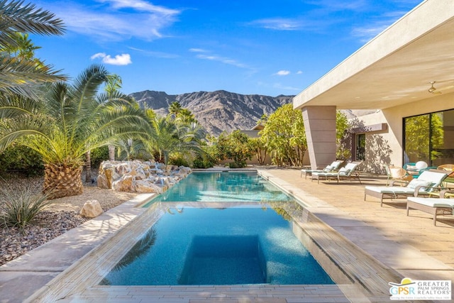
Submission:
[[[383,173],[384,164],[403,166],[403,119],[448,109],[454,109],[454,94],[441,94],[350,120],[355,126],[367,127],[376,123],[387,123],[388,126],[385,131],[365,132],[366,160],[363,170]]]

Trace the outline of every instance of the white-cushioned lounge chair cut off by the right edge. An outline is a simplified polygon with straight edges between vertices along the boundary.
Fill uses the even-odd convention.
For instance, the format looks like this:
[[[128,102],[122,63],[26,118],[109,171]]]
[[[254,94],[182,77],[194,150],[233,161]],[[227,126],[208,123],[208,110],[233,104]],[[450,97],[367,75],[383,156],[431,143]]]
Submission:
[[[443,198],[422,198],[408,197],[406,201],[406,215],[409,216],[410,209],[417,209],[433,215],[433,226],[436,226],[437,216],[454,215],[454,199]]]

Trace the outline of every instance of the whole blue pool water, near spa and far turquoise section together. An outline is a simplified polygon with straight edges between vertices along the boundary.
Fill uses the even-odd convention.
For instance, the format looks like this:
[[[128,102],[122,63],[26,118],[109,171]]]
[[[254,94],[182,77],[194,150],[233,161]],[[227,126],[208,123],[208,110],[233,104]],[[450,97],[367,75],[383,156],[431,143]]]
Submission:
[[[292,231],[301,206],[257,172],[195,172],[155,204],[171,206],[101,285],[333,284]]]

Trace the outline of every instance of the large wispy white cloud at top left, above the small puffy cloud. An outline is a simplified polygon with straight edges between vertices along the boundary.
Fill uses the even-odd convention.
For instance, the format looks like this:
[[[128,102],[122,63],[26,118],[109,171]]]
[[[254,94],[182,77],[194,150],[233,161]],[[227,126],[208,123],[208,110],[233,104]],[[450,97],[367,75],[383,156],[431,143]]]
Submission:
[[[87,1],[90,3],[92,1]],[[140,38],[153,40],[177,21],[181,11],[155,6],[143,0],[98,0],[100,4],[78,1],[52,3],[46,7],[65,21],[68,31],[101,40]]]

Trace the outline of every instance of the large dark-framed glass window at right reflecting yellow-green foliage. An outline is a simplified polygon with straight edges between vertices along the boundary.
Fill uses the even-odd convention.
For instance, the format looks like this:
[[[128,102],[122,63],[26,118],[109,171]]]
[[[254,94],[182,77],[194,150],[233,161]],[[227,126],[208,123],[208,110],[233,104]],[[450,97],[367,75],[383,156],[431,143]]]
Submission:
[[[404,118],[404,163],[454,164],[454,110]]]

